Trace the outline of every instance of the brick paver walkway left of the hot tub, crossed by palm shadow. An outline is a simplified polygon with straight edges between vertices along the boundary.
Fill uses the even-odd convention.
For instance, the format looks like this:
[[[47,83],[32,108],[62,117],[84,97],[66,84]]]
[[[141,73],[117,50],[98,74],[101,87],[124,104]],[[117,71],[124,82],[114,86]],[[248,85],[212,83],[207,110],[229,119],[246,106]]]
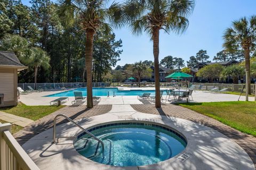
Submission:
[[[96,115],[101,115],[109,112],[112,108],[112,105],[96,105],[92,109],[86,109],[86,106],[66,106],[59,109],[56,112],[53,112],[50,115],[40,118],[39,120],[29,124],[21,131],[13,134],[14,138],[19,142],[20,145],[23,145],[30,138],[35,135],[52,128],[54,117],[58,114],[65,114],[70,117],[72,120],[78,120],[83,117],[91,117]],[[58,124],[68,122],[65,118],[60,117],[57,120]]]

